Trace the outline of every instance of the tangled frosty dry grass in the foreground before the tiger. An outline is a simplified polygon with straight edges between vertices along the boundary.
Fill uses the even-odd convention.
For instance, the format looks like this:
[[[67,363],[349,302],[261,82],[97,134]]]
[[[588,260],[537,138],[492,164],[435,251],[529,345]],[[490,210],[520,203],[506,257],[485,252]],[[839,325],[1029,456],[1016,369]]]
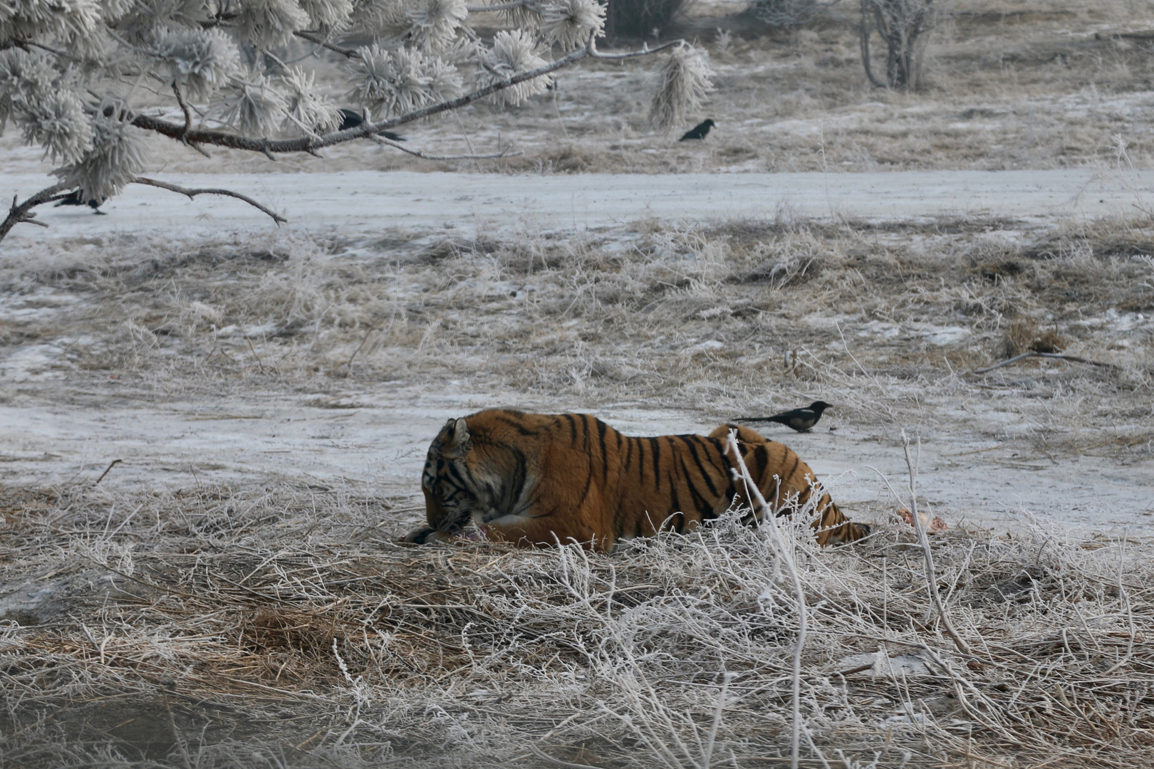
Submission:
[[[766,529],[604,556],[399,546],[404,511],[292,485],[2,507],[5,766],[703,767],[727,672],[712,766],[788,761],[797,604]],[[1032,519],[936,537],[964,655],[908,528],[785,540],[809,604],[802,766],[1154,753],[1148,544]]]

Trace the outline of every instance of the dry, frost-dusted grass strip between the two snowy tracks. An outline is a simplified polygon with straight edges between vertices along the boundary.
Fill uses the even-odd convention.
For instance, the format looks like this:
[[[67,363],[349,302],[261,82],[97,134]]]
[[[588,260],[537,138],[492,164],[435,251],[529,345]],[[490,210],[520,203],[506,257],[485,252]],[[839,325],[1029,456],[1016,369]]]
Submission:
[[[862,425],[936,400],[1028,414],[1025,446],[1149,455],[1145,220],[526,229],[28,246],[0,264],[0,341],[38,350],[29,383],[117,376],[172,397],[456,379],[586,408],[707,404],[709,419],[829,394]],[[1116,368],[960,376],[1059,341]]]

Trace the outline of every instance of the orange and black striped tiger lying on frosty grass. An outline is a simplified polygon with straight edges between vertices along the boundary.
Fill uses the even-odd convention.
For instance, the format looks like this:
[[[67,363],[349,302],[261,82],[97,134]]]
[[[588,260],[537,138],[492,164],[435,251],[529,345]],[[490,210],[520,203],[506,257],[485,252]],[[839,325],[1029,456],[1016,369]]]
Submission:
[[[406,542],[452,537],[470,522],[492,540],[580,542],[608,550],[619,540],[692,529],[735,503],[749,506],[727,453],[730,430],[774,511],[819,495],[819,544],[853,542],[869,527],[846,520],[817,476],[788,447],[745,427],[709,436],[623,436],[587,414],[490,409],[449,420],[429,446],[421,477],[428,526]],[[759,519],[750,514],[749,521]]]

